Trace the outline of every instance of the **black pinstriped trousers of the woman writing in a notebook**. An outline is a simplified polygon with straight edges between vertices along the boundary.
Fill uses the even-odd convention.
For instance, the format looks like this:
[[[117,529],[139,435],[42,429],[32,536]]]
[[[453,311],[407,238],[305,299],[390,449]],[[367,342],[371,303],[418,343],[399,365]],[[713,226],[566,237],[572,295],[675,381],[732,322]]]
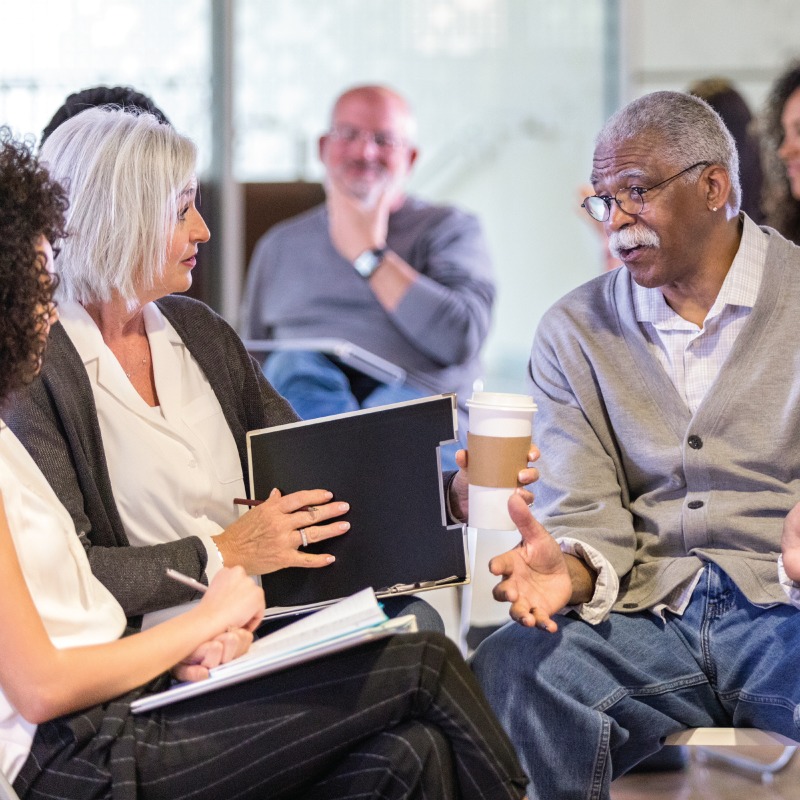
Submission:
[[[130,693],[37,729],[26,800],[497,798],[525,794],[455,646],[401,634],[148,714]]]

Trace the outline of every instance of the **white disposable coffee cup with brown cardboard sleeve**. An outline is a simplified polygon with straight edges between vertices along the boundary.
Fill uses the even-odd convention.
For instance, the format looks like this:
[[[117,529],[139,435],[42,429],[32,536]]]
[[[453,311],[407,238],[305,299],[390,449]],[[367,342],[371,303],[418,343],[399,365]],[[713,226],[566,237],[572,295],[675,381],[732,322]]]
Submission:
[[[474,392],[469,410],[469,522],[473,528],[511,531],[508,498],[528,466],[536,403],[524,394]]]

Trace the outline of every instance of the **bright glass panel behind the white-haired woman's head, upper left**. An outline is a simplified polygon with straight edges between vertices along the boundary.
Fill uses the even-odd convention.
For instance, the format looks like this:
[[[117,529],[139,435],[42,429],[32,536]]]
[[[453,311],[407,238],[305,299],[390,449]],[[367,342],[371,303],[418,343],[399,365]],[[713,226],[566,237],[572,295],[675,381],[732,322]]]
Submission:
[[[209,0],[6,3],[0,25],[0,121],[39,138],[68,94],[133,86],[211,152]]]

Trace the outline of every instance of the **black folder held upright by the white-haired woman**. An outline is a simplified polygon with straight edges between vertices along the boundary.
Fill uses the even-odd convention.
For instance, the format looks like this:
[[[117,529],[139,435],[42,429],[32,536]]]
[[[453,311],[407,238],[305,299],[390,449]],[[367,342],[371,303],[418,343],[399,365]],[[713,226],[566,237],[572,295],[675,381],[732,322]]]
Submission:
[[[329,489],[346,500],[342,536],[310,544],[336,561],[263,575],[269,608],[296,611],[366,587],[379,597],[466,583],[463,525],[448,524],[439,444],[457,436],[455,396],[435,395],[251,431],[250,498]]]

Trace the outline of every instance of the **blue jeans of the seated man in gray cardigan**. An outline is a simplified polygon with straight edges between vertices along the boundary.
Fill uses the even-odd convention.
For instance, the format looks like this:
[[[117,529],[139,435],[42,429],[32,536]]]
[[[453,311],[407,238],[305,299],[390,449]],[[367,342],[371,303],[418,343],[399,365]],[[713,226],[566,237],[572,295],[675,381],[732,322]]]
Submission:
[[[472,661],[531,776],[530,800],[607,800],[613,778],[685,728],[800,738],[800,613],[753,606],[714,564],[682,617],[558,623],[556,634],[509,623]]]

